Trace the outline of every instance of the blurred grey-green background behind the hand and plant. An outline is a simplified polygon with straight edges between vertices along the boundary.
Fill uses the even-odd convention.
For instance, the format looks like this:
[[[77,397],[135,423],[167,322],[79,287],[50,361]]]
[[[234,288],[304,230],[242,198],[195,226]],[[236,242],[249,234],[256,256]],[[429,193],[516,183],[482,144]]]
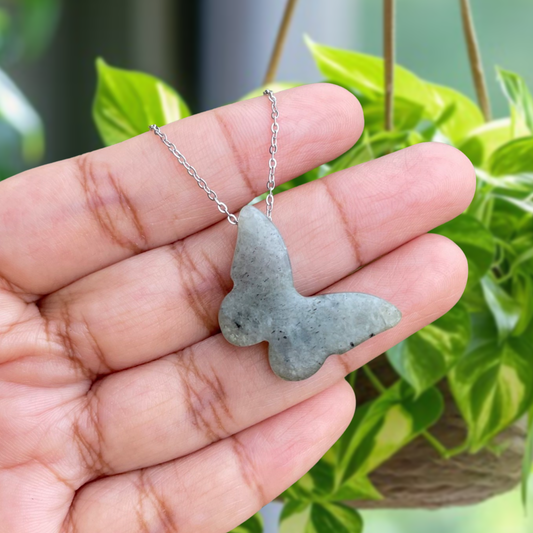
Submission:
[[[0,127],[2,164],[8,162],[14,173],[101,146],[91,117],[97,56],[161,77],[194,112],[240,98],[261,85],[284,5],[284,0],[0,0],[0,67],[30,103],[16,105],[17,89],[3,79],[0,115],[13,127]],[[533,1],[473,0],[472,7],[493,113],[505,116],[508,103],[494,65],[519,72],[533,87]],[[331,46],[381,55],[381,24],[377,0],[301,0],[278,79],[322,78],[304,33]],[[458,2],[400,0],[397,61],[475,99]],[[26,143],[24,157],[11,157],[20,151],[11,148],[17,143]],[[264,510],[267,533],[277,531],[278,513],[277,504]],[[368,533],[533,530],[516,492],[474,507],[362,515]]]

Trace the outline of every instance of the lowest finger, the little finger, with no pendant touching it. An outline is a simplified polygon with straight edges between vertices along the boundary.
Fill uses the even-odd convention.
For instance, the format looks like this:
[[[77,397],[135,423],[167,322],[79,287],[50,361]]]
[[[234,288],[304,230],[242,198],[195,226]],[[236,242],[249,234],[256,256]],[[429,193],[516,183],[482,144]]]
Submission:
[[[96,481],[74,502],[76,533],[225,533],[299,479],[355,407],[347,383],[189,457]]]

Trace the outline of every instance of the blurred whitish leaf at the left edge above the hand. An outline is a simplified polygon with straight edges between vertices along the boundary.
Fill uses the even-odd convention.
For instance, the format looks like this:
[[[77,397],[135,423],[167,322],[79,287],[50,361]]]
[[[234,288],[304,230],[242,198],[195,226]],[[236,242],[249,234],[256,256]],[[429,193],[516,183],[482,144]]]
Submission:
[[[22,156],[36,163],[44,154],[44,131],[39,115],[11,78],[0,70],[0,122],[15,130],[22,141]],[[8,158],[10,154],[2,154]]]

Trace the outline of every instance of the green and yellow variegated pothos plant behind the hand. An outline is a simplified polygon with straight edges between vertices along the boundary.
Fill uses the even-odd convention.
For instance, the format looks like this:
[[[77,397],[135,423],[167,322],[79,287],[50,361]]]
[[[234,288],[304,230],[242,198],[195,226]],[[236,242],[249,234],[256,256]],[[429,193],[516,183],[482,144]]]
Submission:
[[[396,66],[394,129],[384,131],[383,60],[306,41],[323,78],[361,101],[365,132],[345,154],[277,192],[431,140],[462,150],[477,169],[478,186],[467,211],[434,230],[466,254],[464,296],[445,316],[387,352],[397,375],[392,386],[383,386],[368,367],[359,371],[378,394],[358,406],[335,446],[284,493],[280,530],[362,531],[359,513],[342,502],[382,498],[369,475],[413,439],[432,439],[446,457],[476,453],[490,448],[497,435],[529,413],[525,497],[533,459],[533,97],[519,75],[498,68],[510,116],[486,123],[465,95]],[[97,71],[93,113],[107,145],[142,133],[149,124],[190,114],[175,90],[148,74],[113,68],[102,59]],[[357,388],[355,373],[347,379]],[[430,433],[443,413],[437,387],[442,380],[447,380],[468,430],[454,450]],[[235,531],[262,529],[257,515]]]

